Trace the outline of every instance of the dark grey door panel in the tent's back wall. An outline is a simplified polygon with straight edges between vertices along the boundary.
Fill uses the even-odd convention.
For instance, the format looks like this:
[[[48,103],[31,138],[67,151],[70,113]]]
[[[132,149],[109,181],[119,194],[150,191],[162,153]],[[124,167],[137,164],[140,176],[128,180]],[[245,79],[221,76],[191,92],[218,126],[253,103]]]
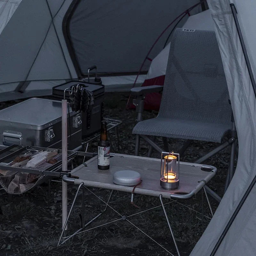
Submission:
[[[70,19],[69,31],[81,72],[86,74],[92,65],[97,65],[101,73],[138,72],[164,28],[196,3],[198,0],[80,1]],[[150,58],[163,49],[167,36],[168,32]],[[148,70],[149,64],[144,70]]]

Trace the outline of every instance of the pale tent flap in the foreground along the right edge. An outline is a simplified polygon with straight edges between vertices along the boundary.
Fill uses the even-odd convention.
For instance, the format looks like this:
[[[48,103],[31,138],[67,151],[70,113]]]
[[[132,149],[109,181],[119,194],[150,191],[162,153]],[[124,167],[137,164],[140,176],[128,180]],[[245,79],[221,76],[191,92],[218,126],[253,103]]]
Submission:
[[[239,41],[230,4],[237,10],[244,43],[256,76],[256,33],[252,29],[256,13],[254,0],[208,0],[227,78],[239,141],[235,175],[210,224],[190,256],[211,255],[223,230],[256,175],[256,99]],[[256,186],[252,187],[215,256],[255,255]],[[217,247],[216,247],[217,248]]]

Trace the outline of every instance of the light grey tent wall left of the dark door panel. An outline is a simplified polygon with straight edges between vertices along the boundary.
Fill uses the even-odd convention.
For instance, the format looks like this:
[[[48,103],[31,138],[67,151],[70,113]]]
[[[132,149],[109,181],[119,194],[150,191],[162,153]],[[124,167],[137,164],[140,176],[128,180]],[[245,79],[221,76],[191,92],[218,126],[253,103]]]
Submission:
[[[77,78],[62,32],[71,2],[22,0],[18,7],[16,3],[0,34],[1,101],[49,95],[53,84]],[[3,12],[11,14],[14,6],[7,4]],[[5,17],[0,16],[0,24]]]

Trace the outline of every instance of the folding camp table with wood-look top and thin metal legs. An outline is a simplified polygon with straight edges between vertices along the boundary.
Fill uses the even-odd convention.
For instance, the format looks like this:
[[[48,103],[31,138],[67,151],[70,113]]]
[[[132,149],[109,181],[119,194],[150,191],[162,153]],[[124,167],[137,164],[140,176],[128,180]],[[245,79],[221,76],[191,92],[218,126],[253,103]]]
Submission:
[[[162,205],[163,211],[164,211],[164,215],[166,217],[169,229],[171,231],[175,247],[177,249],[178,255],[180,255],[176,241],[173,236],[173,232],[172,232],[172,228],[171,228],[169,219],[165,212],[162,197],[169,198],[169,199],[170,198],[171,199],[191,198],[200,189],[204,188],[204,185],[209,180],[211,180],[212,177],[215,175],[217,169],[210,165],[191,164],[191,163],[180,162],[180,175],[179,175],[180,186],[178,189],[166,190],[160,186],[160,166],[161,166],[160,159],[141,157],[141,156],[130,156],[130,155],[123,155],[123,154],[114,154],[110,157],[110,169],[109,170],[105,170],[105,171],[99,170],[97,167],[97,156],[94,156],[90,160],[85,162],[84,164],[81,164],[78,167],[76,167],[74,170],[72,170],[71,178],[64,175],[62,178],[62,182],[73,183],[73,184],[79,185],[79,187],[77,189],[76,196],[72,203],[68,217],[63,225],[62,234],[60,236],[58,245],[65,243],[68,239],[70,239],[71,237],[78,234],[82,229],[84,229],[86,226],[88,226],[90,223],[92,223],[93,220],[97,219],[102,214],[102,212],[100,212],[100,214],[98,214],[96,217],[94,217],[87,224],[84,225],[84,223],[83,223],[84,226],[82,228],[78,229],[73,235],[66,236],[65,238],[63,237],[64,231],[66,229],[69,216],[70,216],[73,206],[75,204],[79,189],[82,186],[84,186],[85,188],[87,188],[87,186],[88,186],[88,187],[111,189],[112,191],[118,190],[118,191],[129,192],[129,193],[132,193],[132,198],[133,198],[133,193],[148,195],[148,196],[158,196],[160,198],[161,205]],[[121,186],[121,185],[116,185],[113,183],[113,173],[120,171],[120,170],[127,170],[127,169],[137,171],[141,175],[142,182],[139,185],[137,185],[135,188],[133,186]],[[110,193],[110,196],[112,194],[112,191]],[[205,190],[204,190],[204,192],[205,192]],[[207,194],[205,193],[205,195],[206,195],[209,207],[211,209],[211,205],[209,203]],[[107,202],[104,202],[103,200],[101,200],[99,198],[103,203],[106,204],[106,208],[107,208],[107,206],[109,206],[108,203],[109,203],[110,196],[109,196]],[[66,201],[64,201],[64,202],[66,202]],[[132,200],[131,200],[131,202],[132,202]],[[63,207],[67,207],[67,205],[63,205]],[[109,206],[109,207],[112,208],[111,206]],[[106,210],[106,208],[105,208],[105,210]],[[121,214],[119,214],[119,215],[121,216],[120,219],[127,220],[128,222],[130,222],[126,218],[126,216],[122,216]],[[82,216],[83,216],[83,214],[82,214]],[[132,225],[134,225],[134,224],[132,224]],[[149,238],[151,238],[151,237],[149,237]]]

